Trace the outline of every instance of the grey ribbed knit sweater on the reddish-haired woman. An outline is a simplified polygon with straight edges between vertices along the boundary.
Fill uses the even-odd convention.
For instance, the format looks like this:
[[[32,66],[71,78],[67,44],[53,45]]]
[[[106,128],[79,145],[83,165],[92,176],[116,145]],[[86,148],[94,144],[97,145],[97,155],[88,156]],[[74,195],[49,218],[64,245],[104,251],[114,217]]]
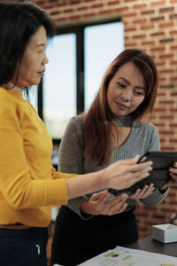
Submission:
[[[81,115],[73,117],[62,137],[59,147],[58,171],[72,174],[86,174],[95,172],[103,167],[98,166],[97,161],[90,161],[84,158],[82,150],[82,139],[78,135],[79,123]],[[159,151],[158,131],[150,122],[133,122],[131,132],[124,145],[117,147],[114,151],[113,160],[110,164],[117,160],[127,160],[135,157],[136,154],[142,155],[147,151]],[[165,199],[168,190],[161,193],[156,189],[142,203],[148,207],[157,206]],[[75,213],[81,215],[83,219],[88,219],[91,215],[83,215],[81,213],[81,202],[89,198],[91,194],[82,196],[73,200],[69,200],[67,207],[71,208]],[[137,200],[127,199],[127,208],[125,211],[137,205]]]

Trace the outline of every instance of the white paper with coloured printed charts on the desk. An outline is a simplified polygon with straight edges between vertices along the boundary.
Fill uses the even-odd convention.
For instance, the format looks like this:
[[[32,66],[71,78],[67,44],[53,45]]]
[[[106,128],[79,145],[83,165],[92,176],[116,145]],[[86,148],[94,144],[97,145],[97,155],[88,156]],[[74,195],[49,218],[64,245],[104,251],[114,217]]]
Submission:
[[[99,254],[83,266],[177,266],[177,257],[155,254],[147,251],[117,246],[116,248]]]

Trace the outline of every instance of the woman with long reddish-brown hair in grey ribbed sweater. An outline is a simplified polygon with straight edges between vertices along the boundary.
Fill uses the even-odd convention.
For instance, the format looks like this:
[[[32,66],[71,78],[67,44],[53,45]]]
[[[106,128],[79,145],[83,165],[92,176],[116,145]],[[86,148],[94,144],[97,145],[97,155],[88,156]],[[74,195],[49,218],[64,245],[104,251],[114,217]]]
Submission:
[[[154,106],[158,72],[143,51],[127,50],[112,61],[88,113],[75,116],[59,148],[58,170],[85,174],[148,151],[159,151],[158,131],[144,118]],[[143,121],[142,121],[143,119]],[[138,238],[137,200],[153,207],[168,189],[153,184],[132,194],[96,192],[61,207],[52,243],[51,263],[77,265]]]

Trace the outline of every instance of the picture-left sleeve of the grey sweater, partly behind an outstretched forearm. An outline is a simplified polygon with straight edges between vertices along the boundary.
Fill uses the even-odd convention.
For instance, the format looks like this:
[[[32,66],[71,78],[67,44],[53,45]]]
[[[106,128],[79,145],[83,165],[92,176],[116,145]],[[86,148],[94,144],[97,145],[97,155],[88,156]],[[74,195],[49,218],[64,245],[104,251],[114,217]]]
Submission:
[[[62,137],[59,145],[58,170],[65,173],[83,174],[83,151],[82,141],[79,135],[80,116],[73,117]],[[73,200],[68,200],[67,207],[80,215],[83,219],[89,219],[92,215],[81,213],[81,203],[87,200],[86,196],[81,196]]]

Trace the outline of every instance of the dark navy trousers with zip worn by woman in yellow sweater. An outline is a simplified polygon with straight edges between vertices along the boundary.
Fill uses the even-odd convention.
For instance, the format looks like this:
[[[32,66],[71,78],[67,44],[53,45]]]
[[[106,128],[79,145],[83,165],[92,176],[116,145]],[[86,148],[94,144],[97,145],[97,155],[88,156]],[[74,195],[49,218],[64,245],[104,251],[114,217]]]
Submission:
[[[0,229],[1,266],[47,266],[47,228]]]

